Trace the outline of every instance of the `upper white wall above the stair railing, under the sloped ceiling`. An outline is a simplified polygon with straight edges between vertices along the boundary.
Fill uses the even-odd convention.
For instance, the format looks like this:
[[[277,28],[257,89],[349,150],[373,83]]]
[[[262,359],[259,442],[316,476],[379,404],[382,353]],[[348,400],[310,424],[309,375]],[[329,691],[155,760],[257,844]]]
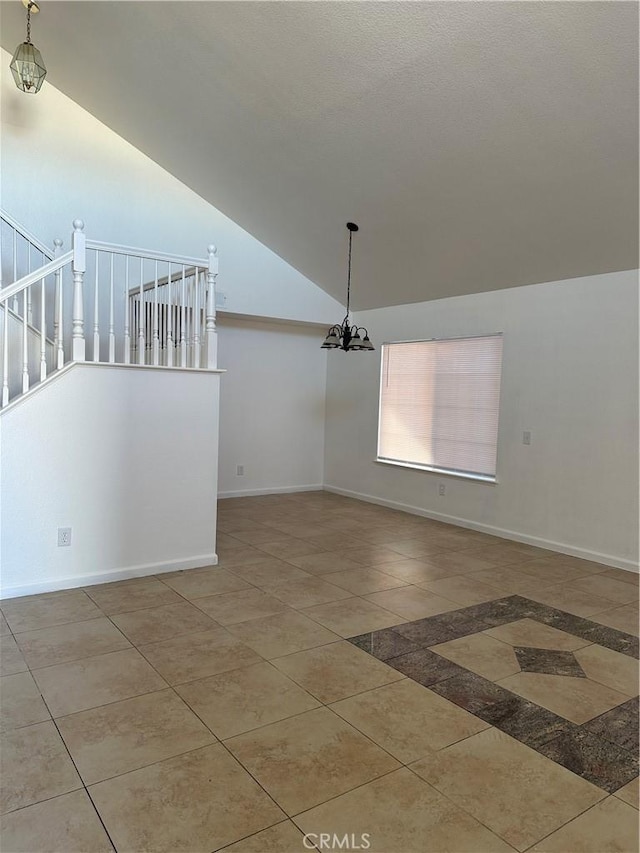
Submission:
[[[46,245],[61,237],[69,249],[78,217],[88,237],[110,243],[203,258],[215,243],[225,310],[327,325],[341,316],[332,297],[49,83],[37,97],[20,93],[0,54],[0,202]]]

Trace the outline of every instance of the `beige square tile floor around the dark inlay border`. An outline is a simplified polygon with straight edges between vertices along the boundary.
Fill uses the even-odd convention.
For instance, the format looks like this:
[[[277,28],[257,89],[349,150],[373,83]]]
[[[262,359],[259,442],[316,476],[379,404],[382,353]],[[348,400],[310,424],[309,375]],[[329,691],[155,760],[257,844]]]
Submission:
[[[635,853],[637,780],[608,795],[344,638],[509,594],[637,634],[637,576],[320,492],[221,501],[218,530],[217,567],[2,602],[0,849]],[[436,651],[577,721],[637,693],[528,619]]]

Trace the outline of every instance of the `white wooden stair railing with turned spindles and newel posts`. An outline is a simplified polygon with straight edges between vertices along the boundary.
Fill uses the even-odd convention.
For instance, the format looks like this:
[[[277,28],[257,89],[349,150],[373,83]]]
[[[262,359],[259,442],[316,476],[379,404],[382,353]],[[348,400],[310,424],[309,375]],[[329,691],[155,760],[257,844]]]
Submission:
[[[53,251],[0,211],[0,408],[72,362],[215,370],[215,246],[188,258],[87,239]]]

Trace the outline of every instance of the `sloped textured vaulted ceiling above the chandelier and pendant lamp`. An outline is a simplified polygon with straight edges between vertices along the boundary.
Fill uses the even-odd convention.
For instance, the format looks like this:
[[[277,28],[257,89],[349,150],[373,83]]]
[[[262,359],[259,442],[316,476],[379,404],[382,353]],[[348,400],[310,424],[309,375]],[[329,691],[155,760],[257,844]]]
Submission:
[[[41,7],[51,84],[341,301],[357,222],[356,308],[638,264],[636,3]]]

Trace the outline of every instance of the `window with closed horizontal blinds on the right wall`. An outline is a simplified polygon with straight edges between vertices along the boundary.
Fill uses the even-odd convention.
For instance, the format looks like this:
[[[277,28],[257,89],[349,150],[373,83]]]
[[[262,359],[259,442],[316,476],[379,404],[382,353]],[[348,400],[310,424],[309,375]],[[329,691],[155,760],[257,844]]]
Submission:
[[[496,479],[502,335],[383,344],[378,461]]]

